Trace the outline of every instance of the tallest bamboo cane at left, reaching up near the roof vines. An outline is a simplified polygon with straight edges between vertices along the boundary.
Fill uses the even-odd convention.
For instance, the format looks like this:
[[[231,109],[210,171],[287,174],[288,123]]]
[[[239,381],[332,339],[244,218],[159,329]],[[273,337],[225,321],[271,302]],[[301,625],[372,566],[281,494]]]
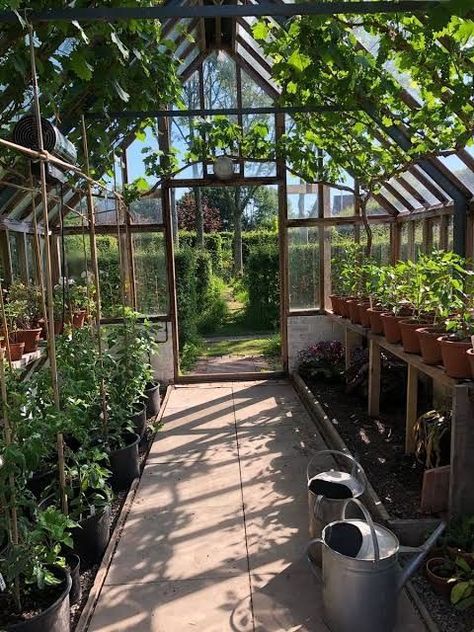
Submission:
[[[38,147],[40,152],[44,151],[43,145],[43,128],[41,124],[41,106],[39,100],[38,76],[36,73],[35,47],[33,44],[33,27],[29,25],[29,45],[30,45],[30,61],[31,61],[31,78],[33,86],[33,103],[36,116],[36,126],[38,130]],[[48,217],[48,190],[46,184],[46,167],[44,161],[40,162],[40,182],[41,182],[41,199],[43,202],[43,221],[44,221],[44,244],[46,255],[46,296],[48,308],[48,356],[51,371],[51,382],[53,386],[54,403],[57,410],[60,409],[58,368],[56,362],[56,342],[54,339],[54,306],[53,306],[53,281],[51,271],[51,236],[49,232]],[[58,470],[59,470],[59,490],[61,494],[61,507],[63,513],[67,515],[67,495],[66,495],[66,474],[64,463],[64,441],[62,432],[58,432],[56,437],[56,448],[58,453]]]

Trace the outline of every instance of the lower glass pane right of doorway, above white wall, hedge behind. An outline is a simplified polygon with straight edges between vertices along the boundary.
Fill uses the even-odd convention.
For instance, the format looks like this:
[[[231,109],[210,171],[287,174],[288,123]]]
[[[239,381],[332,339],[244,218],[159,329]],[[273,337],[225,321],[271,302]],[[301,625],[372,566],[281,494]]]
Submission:
[[[290,310],[318,309],[321,305],[319,228],[288,229]]]

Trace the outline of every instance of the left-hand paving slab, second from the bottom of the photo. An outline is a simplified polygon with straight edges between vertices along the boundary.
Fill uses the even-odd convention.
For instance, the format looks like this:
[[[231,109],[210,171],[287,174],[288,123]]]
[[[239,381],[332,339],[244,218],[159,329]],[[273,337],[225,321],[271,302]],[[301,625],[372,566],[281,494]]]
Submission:
[[[247,571],[242,509],[145,509],[129,516],[106,583],[221,578]]]

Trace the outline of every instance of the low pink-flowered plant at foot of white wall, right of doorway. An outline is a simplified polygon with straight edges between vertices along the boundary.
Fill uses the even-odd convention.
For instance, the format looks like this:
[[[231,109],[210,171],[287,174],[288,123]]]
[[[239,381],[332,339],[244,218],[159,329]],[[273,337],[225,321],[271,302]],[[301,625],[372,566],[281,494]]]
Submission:
[[[344,372],[344,346],[338,340],[324,340],[298,354],[298,372],[305,378],[341,379]]]

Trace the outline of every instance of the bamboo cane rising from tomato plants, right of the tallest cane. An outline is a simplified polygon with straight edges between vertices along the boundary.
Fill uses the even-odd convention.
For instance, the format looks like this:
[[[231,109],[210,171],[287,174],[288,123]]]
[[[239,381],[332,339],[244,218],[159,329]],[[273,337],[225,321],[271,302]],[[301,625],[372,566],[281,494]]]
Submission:
[[[90,164],[89,164],[89,147],[87,143],[87,129],[86,122],[84,119],[84,115],[82,116],[82,144],[84,150],[84,162],[86,167],[87,174],[90,173]],[[90,240],[90,248],[91,248],[91,262],[92,262],[92,272],[94,274],[94,282],[95,282],[95,303],[96,303],[96,318],[95,318],[95,326],[96,326],[96,334],[97,334],[97,350],[99,352],[99,362],[101,366],[101,383],[100,383],[100,392],[102,399],[102,422],[104,427],[104,437],[108,440],[108,413],[107,413],[107,394],[105,389],[104,382],[104,371],[103,371],[103,347],[102,347],[102,334],[100,330],[100,320],[102,317],[102,305],[101,305],[101,297],[100,297],[100,276],[99,276],[99,264],[97,260],[97,238],[95,234],[95,217],[94,217],[94,201],[92,198],[92,187],[89,180],[86,183],[86,199],[87,199],[87,212],[89,218],[89,240]]]

